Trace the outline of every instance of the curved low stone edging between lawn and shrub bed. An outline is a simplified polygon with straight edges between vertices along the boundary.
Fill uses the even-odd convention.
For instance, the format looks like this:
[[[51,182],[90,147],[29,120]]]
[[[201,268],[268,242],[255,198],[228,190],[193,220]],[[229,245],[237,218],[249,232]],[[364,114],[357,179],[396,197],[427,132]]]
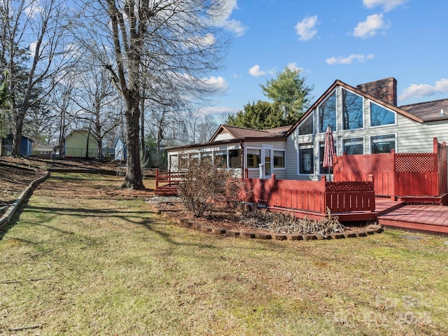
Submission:
[[[275,232],[248,232],[239,230],[228,230],[225,228],[215,228],[209,225],[203,225],[190,221],[187,218],[181,218],[176,216],[173,211],[164,211],[160,209],[158,204],[150,204],[153,207],[156,214],[165,216],[174,223],[178,223],[184,228],[192,228],[202,232],[208,232],[212,235],[225,235],[228,237],[242,237],[248,239],[274,239],[274,240],[322,240],[322,239],[343,239],[343,238],[356,238],[366,237],[367,235],[374,235],[375,233],[381,233],[383,228],[381,225],[369,225],[366,229],[346,232],[333,232],[330,235],[323,236],[318,234],[298,235],[298,234],[284,234]]]

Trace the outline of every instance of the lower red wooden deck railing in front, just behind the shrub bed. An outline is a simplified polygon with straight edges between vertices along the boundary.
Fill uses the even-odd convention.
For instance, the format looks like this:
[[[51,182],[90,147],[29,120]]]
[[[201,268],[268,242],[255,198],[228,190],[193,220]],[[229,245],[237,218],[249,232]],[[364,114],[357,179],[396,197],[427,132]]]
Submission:
[[[267,207],[281,207],[325,214],[374,211],[373,181],[327,182],[241,179],[240,200]]]

